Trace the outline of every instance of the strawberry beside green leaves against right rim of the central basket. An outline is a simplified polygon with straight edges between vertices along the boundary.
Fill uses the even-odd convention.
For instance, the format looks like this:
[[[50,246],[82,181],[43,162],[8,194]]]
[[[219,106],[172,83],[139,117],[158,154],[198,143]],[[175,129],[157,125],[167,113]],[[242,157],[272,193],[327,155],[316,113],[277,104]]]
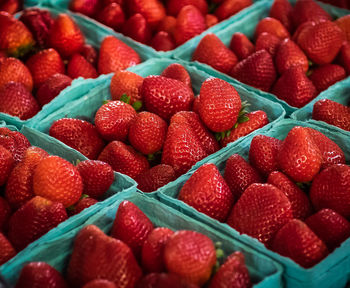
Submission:
[[[247,113],[244,117],[248,120],[243,123],[238,123],[238,126],[232,128],[230,134],[220,141],[222,147],[225,147],[228,143],[234,142],[269,123],[266,112],[262,110]]]

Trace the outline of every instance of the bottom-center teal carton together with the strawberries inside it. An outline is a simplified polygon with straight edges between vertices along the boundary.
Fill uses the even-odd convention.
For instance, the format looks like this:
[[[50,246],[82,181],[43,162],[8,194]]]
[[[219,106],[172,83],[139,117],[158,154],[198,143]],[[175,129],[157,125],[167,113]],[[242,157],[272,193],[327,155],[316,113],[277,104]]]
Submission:
[[[137,192],[119,194],[80,227],[0,272],[16,287],[38,279],[69,287],[282,286],[275,261]]]

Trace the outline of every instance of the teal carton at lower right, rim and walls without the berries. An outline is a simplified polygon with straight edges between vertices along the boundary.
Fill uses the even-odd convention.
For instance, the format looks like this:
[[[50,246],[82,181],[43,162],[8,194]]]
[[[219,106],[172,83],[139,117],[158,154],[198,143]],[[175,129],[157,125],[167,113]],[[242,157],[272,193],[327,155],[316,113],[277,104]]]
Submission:
[[[324,127],[315,125],[313,123],[300,122],[290,119],[284,119],[277,122],[272,128],[264,132],[264,135],[275,137],[278,139],[284,139],[287,133],[294,126],[311,127],[324,133],[330,139],[335,141],[345,153],[347,163],[350,161],[350,137],[344,133],[336,133],[329,131]],[[260,133],[259,133],[260,134]],[[233,154],[238,153],[243,158],[248,160],[248,152],[250,142],[253,136],[246,137],[240,143],[232,145],[229,150],[224,153],[220,153],[217,157],[210,159],[210,163],[214,163],[220,170],[224,172],[226,160]],[[203,161],[204,162],[204,161]],[[198,165],[199,166],[199,165]],[[189,217],[203,222],[213,229],[230,236],[233,239],[239,240],[242,243],[247,244],[256,251],[267,255],[268,257],[279,262],[283,268],[283,280],[284,285],[287,288],[335,288],[345,287],[345,283],[350,279],[350,238],[342,243],[340,247],[335,249],[328,257],[326,257],[319,264],[312,268],[305,269],[292,261],[290,258],[283,257],[272,250],[267,249],[257,239],[252,238],[246,234],[240,234],[235,229],[231,228],[225,223],[221,223],[217,220],[206,216],[203,213],[198,212],[191,206],[184,202],[177,200],[177,196],[184,185],[184,183],[190,178],[196,169],[190,170],[187,174],[182,175],[176,181],[169,183],[168,185],[158,189],[156,192],[161,202],[168,206],[181,211]]]

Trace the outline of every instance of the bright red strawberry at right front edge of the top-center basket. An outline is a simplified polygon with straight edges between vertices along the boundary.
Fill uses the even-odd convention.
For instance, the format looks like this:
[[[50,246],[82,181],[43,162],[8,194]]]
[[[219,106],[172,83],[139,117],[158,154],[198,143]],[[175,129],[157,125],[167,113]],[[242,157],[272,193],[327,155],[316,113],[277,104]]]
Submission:
[[[201,34],[207,28],[205,18],[196,6],[182,7],[176,19],[174,38],[177,46]]]

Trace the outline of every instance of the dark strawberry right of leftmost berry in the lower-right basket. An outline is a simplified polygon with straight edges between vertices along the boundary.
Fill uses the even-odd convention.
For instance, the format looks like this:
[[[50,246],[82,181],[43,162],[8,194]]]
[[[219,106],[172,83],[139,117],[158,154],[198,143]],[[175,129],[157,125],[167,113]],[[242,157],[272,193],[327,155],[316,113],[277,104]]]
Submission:
[[[251,184],[262,183],[259,173],[238,154],[227,159],[224,178],[236,201]]]

